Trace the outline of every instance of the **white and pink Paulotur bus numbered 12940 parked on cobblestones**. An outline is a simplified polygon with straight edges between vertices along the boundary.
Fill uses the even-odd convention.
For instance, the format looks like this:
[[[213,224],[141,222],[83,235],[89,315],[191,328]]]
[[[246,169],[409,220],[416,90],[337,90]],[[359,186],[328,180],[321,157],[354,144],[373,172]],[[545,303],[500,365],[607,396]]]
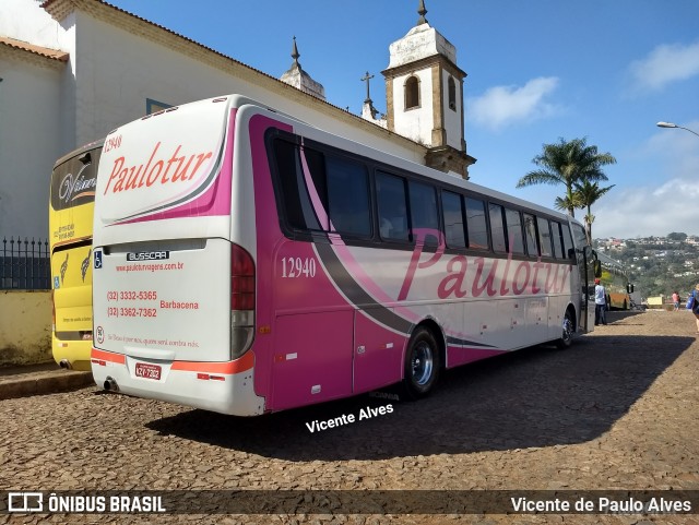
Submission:
[[[111,132],[96,187],[98,385],[252,416],[591,330],[568,216],[232,95]]]

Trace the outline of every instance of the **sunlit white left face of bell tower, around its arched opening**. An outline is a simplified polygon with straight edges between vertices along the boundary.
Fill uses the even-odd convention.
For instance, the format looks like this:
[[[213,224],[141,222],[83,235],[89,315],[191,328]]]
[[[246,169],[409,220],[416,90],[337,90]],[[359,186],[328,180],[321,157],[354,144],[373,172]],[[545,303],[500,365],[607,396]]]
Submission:
[[[405,109],[405,81],[414,74],[419,79],[419,107]],[[433,72],[430,69],[396,76],[393,80],[394,126],[402,135],[430,146],[433,142]]]

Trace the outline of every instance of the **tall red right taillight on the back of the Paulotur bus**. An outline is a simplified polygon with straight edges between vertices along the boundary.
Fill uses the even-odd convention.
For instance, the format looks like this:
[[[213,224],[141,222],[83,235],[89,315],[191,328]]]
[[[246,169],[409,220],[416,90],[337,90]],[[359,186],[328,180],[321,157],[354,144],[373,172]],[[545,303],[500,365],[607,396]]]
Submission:
[[[245,354],[254,337],[254,261],[238,244],[230,246],[230,350]]]

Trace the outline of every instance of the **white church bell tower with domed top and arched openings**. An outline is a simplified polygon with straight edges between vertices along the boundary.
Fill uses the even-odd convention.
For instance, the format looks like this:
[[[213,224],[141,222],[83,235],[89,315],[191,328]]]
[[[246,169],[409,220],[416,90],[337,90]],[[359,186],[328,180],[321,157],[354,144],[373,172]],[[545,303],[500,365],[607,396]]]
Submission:
[[[388,129],[428,147],[425,164],[469,178],[476,162],[466,154],[463,80],[457,50],[425,14],[419,1],[417,24],[389,47],[386,79]]]

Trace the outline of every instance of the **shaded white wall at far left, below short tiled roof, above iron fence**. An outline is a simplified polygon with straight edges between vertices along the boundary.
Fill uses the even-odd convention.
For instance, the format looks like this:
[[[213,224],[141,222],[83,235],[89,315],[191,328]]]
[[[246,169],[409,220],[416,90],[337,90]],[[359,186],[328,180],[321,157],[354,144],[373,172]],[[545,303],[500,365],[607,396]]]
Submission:
[[[20,53],[0,53],[0,241],[48,238],[49,177],[63,153],[61,71]]]

